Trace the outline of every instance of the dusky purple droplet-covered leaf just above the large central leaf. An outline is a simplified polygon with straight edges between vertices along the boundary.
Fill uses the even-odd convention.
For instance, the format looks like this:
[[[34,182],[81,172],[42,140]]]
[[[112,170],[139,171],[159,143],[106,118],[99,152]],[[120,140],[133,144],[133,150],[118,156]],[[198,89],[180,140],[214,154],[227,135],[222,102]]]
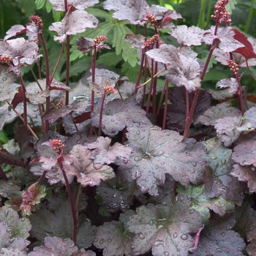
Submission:
[[[91,123],[94,127],[99,127],[99,108],[91,113]],[[106,135],[117,135],[118,131],[139,123],[140,121],[146,124],[146,112],[142,110],[135,102],[135,98],[114,99],[104,106],[102,115],[102,132]]]

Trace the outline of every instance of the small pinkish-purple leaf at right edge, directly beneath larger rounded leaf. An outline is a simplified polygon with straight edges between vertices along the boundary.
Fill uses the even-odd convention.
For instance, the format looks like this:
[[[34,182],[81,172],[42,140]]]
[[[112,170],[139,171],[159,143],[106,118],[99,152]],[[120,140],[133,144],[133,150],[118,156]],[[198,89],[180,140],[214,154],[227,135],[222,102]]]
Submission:
[[[239,181],[247,182],[249,193],[256,192],[256,172],[254,166],[233,165],[231,175],[237,177]]]

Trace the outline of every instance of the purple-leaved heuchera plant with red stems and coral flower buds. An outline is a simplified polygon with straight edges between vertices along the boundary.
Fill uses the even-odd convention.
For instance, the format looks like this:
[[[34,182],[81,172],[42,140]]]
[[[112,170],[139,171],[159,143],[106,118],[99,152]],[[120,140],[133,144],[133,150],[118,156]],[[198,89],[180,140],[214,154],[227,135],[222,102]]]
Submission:
[[[208,30],[175,26],[179,13],[145,0],[105,1],[113,18],[135,27],[123,40],[138,49],[138,79],[96,67],[107,37],[80,37],[78,50],[91,56],[83,101],[69,97],[69,37],[97,29],[86,12],[97,0],[50,0],[64,12],[60,22],[45,28],[32,15],[7,31],[0,124],[22,123],[18,146],[0,150],[12,170],[0,166],[1,255],[255,255],[256,108],[239,69],[252,74],[256,41],[232,28],[228,1],[215,5]],[[62,44],[59,61],[66,54],[65,83],[54,79],[59,61],[50,74],[45,29]],[[161,41],[162,29],[178,47]],[[194,47],[203,44],[206,63]],[[216,91],[201,89],[212,56],[230,68]],[[33,83],[23,80],[24,66]]]

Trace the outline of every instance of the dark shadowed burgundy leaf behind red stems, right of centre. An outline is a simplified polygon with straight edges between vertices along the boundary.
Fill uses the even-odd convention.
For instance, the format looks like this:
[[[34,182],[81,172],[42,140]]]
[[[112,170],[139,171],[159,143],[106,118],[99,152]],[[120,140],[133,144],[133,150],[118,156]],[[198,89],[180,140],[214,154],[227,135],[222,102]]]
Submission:
[[[184,132],[187,116],[186,91],[184,87],[174,87],[169,93],[170,105],[167,105],[167,129],[173,129],[176,132]],[[191,108],[194,94],[189,94],[189,108]],[[206,111],[211,105],[211,95],[207,90],[200,90],[199,97],[195,106],[193,120]]]

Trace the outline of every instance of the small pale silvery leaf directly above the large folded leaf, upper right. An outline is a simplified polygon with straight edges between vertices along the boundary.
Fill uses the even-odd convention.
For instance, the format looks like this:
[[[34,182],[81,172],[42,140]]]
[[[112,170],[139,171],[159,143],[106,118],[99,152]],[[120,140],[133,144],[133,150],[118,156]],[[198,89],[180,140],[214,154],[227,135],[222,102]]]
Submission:
[[[201,45],[205,31],[197,26],[187,27],[186,25],[177,26],[170,32],[180,45]]]

